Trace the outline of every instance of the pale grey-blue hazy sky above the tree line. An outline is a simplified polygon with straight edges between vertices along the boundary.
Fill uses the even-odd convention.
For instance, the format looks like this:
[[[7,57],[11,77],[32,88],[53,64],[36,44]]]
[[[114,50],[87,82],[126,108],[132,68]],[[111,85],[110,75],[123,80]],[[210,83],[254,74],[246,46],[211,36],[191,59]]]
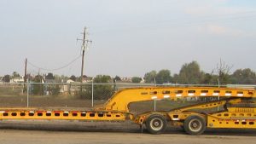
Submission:
[[[212,72],[220,59],[256,71],[254,0],[0,0],[0,76],[24,75],[26,58],[29,73],[79,76],[84,26],[87,76],[174,74],[192,60]]]

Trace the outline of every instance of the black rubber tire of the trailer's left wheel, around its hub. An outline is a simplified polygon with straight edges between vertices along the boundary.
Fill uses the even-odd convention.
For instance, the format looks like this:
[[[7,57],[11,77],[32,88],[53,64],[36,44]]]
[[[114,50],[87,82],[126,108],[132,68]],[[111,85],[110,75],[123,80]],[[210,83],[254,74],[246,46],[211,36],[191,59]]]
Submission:
[[[153,125],[155,120],[157,120],[158,122],[157,124],[160,124],[160,126],[156,126],[156,128],[154,128],[154,125]],[[163,132],[165,132],[167,128],[167,120],[164,116],[160,114],[153,114],[147,118],[146,128],[150,134],[154,134],[154,135],[162,134]]]

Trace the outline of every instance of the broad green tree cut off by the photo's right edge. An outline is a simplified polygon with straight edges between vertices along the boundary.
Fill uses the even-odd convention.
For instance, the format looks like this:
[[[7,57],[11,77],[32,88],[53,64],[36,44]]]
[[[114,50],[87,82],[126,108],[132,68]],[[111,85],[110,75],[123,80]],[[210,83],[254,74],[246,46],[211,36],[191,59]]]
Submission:
[[[232,84],[256,84],[256,73],[250,68],[238,69],[230,77]]]

